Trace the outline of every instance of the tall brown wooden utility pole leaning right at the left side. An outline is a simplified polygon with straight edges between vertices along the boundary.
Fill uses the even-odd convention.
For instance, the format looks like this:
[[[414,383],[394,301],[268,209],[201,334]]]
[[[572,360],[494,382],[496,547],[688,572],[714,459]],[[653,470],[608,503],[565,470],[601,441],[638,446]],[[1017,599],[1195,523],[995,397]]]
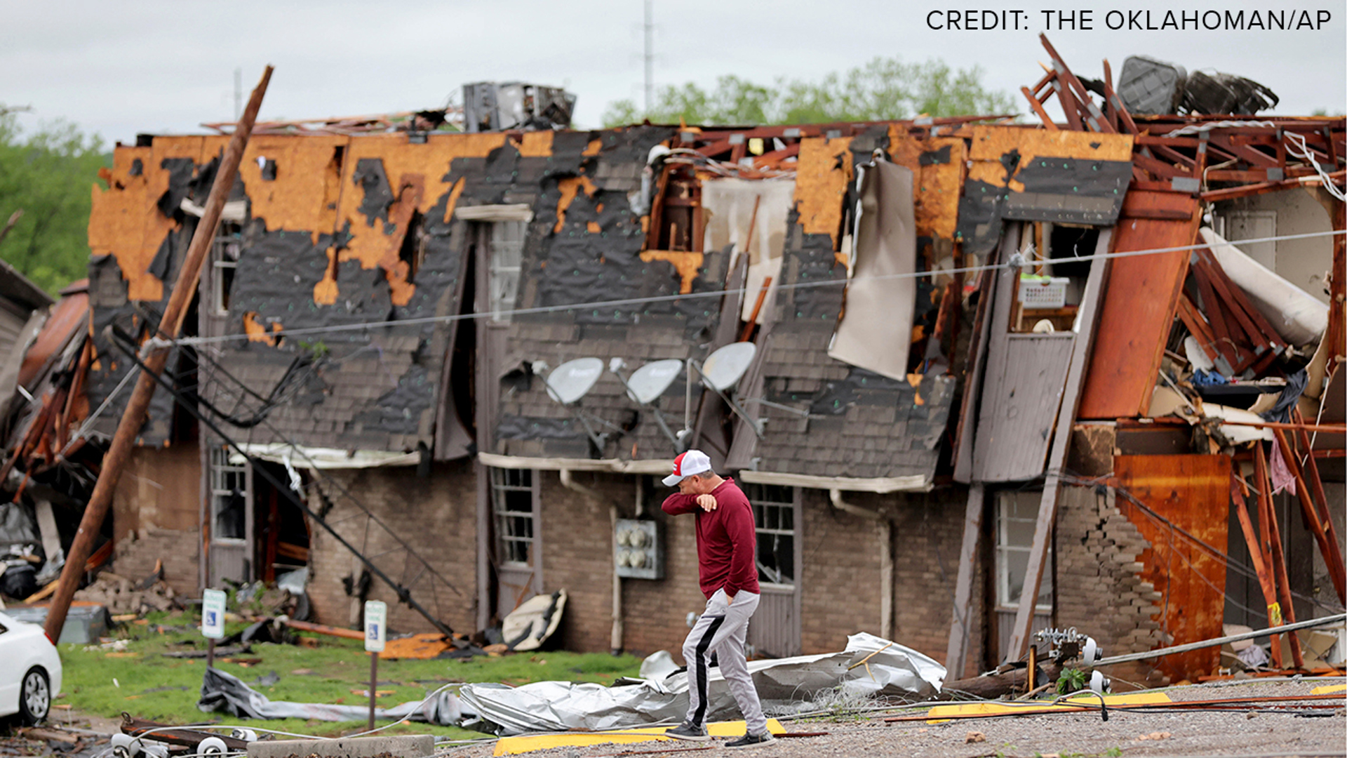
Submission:
[[[210,251],[210,244],[216,237],[216,227],[220,225],[220,213],[229,198],[229,190],[234,185],[234,174],[238,173],[238,163],[242,161],[244,148],[252,134],[253,121],[257,119],[257,109],[261,108],[261,98],[267,94],[267,84],[271,81],[272,67],[261,74],[257,89],[248,100],[242,119],[234,127],[234,135],[225,148],[224,158],[220,159],[220,170],[216,173],[216,183],[210,187],[210,197],[206,200],[205,213],[197,224],[197,231],[191,235],[191,245],[187,247],[187,258],[183,260],[182,272],[168,297],[168,306],[164,308],[163,318],[159,320],[159,330],[155,339],[145,343],[144,355],[145,370],[136,378],[136,388],[127,401],[127,410],[121,414],[117,432],[112,437],[112,446],[102,457],[102,469],[98,472],[98,482],[85,506],[84,518],[79,519],[79,531],[75,533],[70,552],[66,554],[66,566],[61,571],[61,580],[57,592],[51,597],[51,608],[47,611],[46,631],[51,641],[61,639],[61,629],[66,626],[66,612],[70,610],[70,600],[74,599],[75,589],[79,588],[79,577],[85,572],[85,561],[93,550],[94,537],[102,527],[102,519],[108,515],[108,506],[112,504],[112,494],[117,488],[121,469],[131,456],[131,449],[136,444],[136,434],[145,421],[145,409],[155,394],[155,376],[164,370],[168,361],[168,351],[172,347],[167,340],[178,337],[182,330],[182,321],[187,316],[187,306],[191,295],[197,291],[197,281],[201,276],[201,267]],[[132,367],[133,370],[135,367]]]

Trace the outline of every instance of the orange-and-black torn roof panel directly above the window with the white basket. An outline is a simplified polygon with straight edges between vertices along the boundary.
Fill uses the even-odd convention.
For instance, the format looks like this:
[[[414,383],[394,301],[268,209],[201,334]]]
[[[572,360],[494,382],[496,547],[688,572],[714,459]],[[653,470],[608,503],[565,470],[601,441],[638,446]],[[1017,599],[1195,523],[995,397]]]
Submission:
[[[986,255],[1006,218],[1111,225],[1131,182],[1131,136],[973,127],[959,204],[964,252]]]

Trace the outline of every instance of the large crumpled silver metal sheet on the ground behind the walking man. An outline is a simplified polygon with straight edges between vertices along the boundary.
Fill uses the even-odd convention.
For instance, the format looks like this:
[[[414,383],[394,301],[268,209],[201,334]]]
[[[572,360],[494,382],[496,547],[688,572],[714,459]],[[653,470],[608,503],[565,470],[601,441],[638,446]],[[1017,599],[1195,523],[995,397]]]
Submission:
[[[812,709],[818,696],[835,692],[924,700],[940,692],[946,676],[935,660],[863,633],[849,637],[843,651],[753,661],[749,673],[762,709],[773,715]],[[709,685],[707,720],[741,718],[718,668],[711,669]],[[458,696],[505,736],[678,723],[687,713],[687,673],[679,670],[664,678],[613,687],[564,681],[517,688],[465,684]]]

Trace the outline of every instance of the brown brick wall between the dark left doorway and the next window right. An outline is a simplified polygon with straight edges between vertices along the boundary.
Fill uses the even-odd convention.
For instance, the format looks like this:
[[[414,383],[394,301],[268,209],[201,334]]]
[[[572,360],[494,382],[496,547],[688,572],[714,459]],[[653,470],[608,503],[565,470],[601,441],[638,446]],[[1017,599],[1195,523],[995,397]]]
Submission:
[[[412,596],[436,614],[455,631],[475,630],[477,614],[477,477],[467,461],[434,464],[430,476],[420,477],[411,468],[366,468],[329,471],[333,480],[345,487],[370,513],[457,589],[447,589],[422,576],[411,584]],[[411,581],[420,566],[407,560],[397,544],[379,529],[369,529],[364,514],[331,484],[319,486],[310,495],[310,508],[329,507],[327,523],[365,556],[379,556],[374,564],[396,581]],[[358,577],[360,561],[322,527],[311,526],[308,550],[308,599],[321,623],[353,626],[360,622],[358,610],[352,614],[352,597],[346,595],[342,579]],[[430,622],[416,611],[397,602],[393,591],[373,577],[368,600],[388,603],[388,627],[393,631],[431,631]]]

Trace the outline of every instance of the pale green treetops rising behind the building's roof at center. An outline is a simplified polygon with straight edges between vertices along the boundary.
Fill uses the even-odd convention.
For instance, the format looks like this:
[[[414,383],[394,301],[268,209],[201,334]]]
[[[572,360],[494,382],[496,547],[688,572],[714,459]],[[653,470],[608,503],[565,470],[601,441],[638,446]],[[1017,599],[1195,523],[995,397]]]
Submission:
[[[645,117],[657,124],[750,125],[1013,113],[1012,97],[983,88],[982,74],[981,66],[951,69],[943,61],[876,58],[818,81],[777,78],[772,86],[726,76],[710,92],[694,82],[667,85],[651,113],[641,113],[632,100],[612,103],[603,125]]]

